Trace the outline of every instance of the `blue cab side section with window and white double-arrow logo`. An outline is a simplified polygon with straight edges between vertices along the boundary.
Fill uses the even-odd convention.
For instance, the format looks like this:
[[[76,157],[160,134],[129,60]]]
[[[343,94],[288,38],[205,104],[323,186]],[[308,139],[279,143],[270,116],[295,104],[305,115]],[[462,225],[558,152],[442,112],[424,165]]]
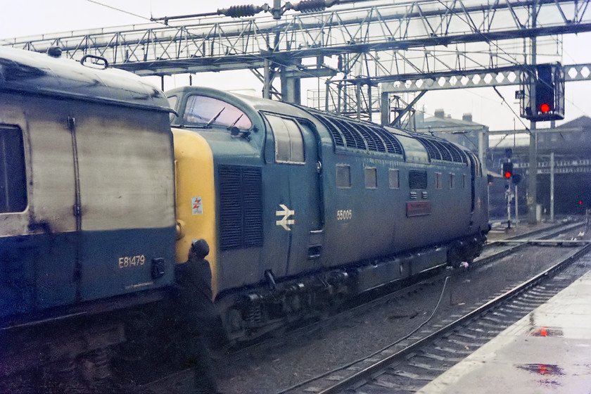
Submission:
[[[266,113],[268,125],[264,180],[274,240],[265,257],[274,275],[294,275],[319,267],[324,229],[318,141],[313,125],[295,117]],[[272,208],[271,208],[272,207]]]

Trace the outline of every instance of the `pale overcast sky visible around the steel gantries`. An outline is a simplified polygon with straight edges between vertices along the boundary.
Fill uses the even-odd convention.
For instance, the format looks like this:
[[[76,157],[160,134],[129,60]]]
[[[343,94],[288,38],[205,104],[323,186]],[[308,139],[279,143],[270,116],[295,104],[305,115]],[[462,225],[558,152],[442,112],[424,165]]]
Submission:
[[[265,2],[272,4],[272,0],[0,0],[0,39],[146,23],[151,15],[206,13],[232,5],[262,5]],[[564,36],[563,63],[591,63],[591,34]],[[312,83],[310,89],[317,84],[308,83]],[[186,77],[169,78],[165,80],[165,89],[184,84],[187,84]],[[255,89],[257,93],[261,90],[260,82],[249,71],[200,74],[193,77],[193,84],[222,89]],[[323,82],[320,84],[324,85]],[[519,105],[514,99],[516,89],[500,87],[499,91],[513,111],[519,113]],[[565,90],[565,121],[591,114],[591,82],[567,83]],[[302,96],[305,101],[305,91]],[[523,129],[522,122],[529,126],[527,120],[514,115],[507,103],[492,88],[456,89],[428,92],[419,101],[419,108],[424,106],[426,116],[433,115],[440,108],[454,118],[471,113],[475,122],[488,125],[490,129]],[[548,126],[548,122],[538,123],[538,128]]]

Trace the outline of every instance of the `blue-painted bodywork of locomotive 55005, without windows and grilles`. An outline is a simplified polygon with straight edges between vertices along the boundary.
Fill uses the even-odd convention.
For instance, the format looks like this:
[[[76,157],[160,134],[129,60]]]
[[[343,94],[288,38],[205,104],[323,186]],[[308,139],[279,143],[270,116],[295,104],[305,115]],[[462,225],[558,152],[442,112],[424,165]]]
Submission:
[[[418,248],[436,248],[488,231],[486,179],[476,177],[473,191],[474,165],[467,153],[458,153],[464,155],[459,162],[432,160],[414,134],[398,129],[389,131],[400,141],[402,154],[341,148],[323,122],[302,107],[207,88],[185,87],[167,94],[179,97],[179,118],[173,120],[173,126],[182,125],[184,101],[191,94],[227,101],[243,110],[253,123],[249,141],[231,137],[225,127],[194,129],[210,144],[216,168],[244,165],[260,167],[262,172],[264,243],[252,248],[220,250],[217,263],[221,292],[262,284],[267,281],[265,272],[269,270],[281,281],[330,267],[365,264]],[[305,165],[275,163],[274,136],[265,120],[267,113],[291,117],[300,123]],[[319,172],[318,161],[322,163]],[[336,187],[336,165],[343,164],[350,165],[350,189]],[[376,168],[376,189],[364,186],[365,167]],[[400,170],[399,189],[388,187],[389,169]],[[426,171],[426,188],[410,189],[409,170]],[[436,189],[436,173],[441,174],[442,189]],[[455,174],[454,189],[450,188],[450,173]],[[215,188],[219,189],[219,184]],[[412,192],[417,193],[417,199],[412,198]],[[474,211],[473,198],[481,201]],[[407,215],[407,203],[413,201],[429,205],[428,214]],[[280,204],[295,211],[290,217],[295,220],[290,231],[276,224]],[[223,209],[218,203],[218,212]],[[351,217],[339,219],[341,210],[350,210]],[[322,234],[312,234],[319,230]],[[312,252],[319,252],[319,258],[309,258]],[[438,256],[445,260],[445,249]],[[440,258],[436,263],[418,259],[408,271],[417,272],[427,269],[428,264],[440,263]]]

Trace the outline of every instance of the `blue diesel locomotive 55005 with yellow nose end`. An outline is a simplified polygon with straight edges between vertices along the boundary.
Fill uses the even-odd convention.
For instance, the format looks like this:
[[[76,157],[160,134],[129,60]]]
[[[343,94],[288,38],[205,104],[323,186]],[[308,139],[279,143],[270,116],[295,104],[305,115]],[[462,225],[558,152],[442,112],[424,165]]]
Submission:
[[[212,246],[231,338],[481,252],[486,177],[470,151],[215,89],[167,96],[177,112],[177,260],[192,239]]]

